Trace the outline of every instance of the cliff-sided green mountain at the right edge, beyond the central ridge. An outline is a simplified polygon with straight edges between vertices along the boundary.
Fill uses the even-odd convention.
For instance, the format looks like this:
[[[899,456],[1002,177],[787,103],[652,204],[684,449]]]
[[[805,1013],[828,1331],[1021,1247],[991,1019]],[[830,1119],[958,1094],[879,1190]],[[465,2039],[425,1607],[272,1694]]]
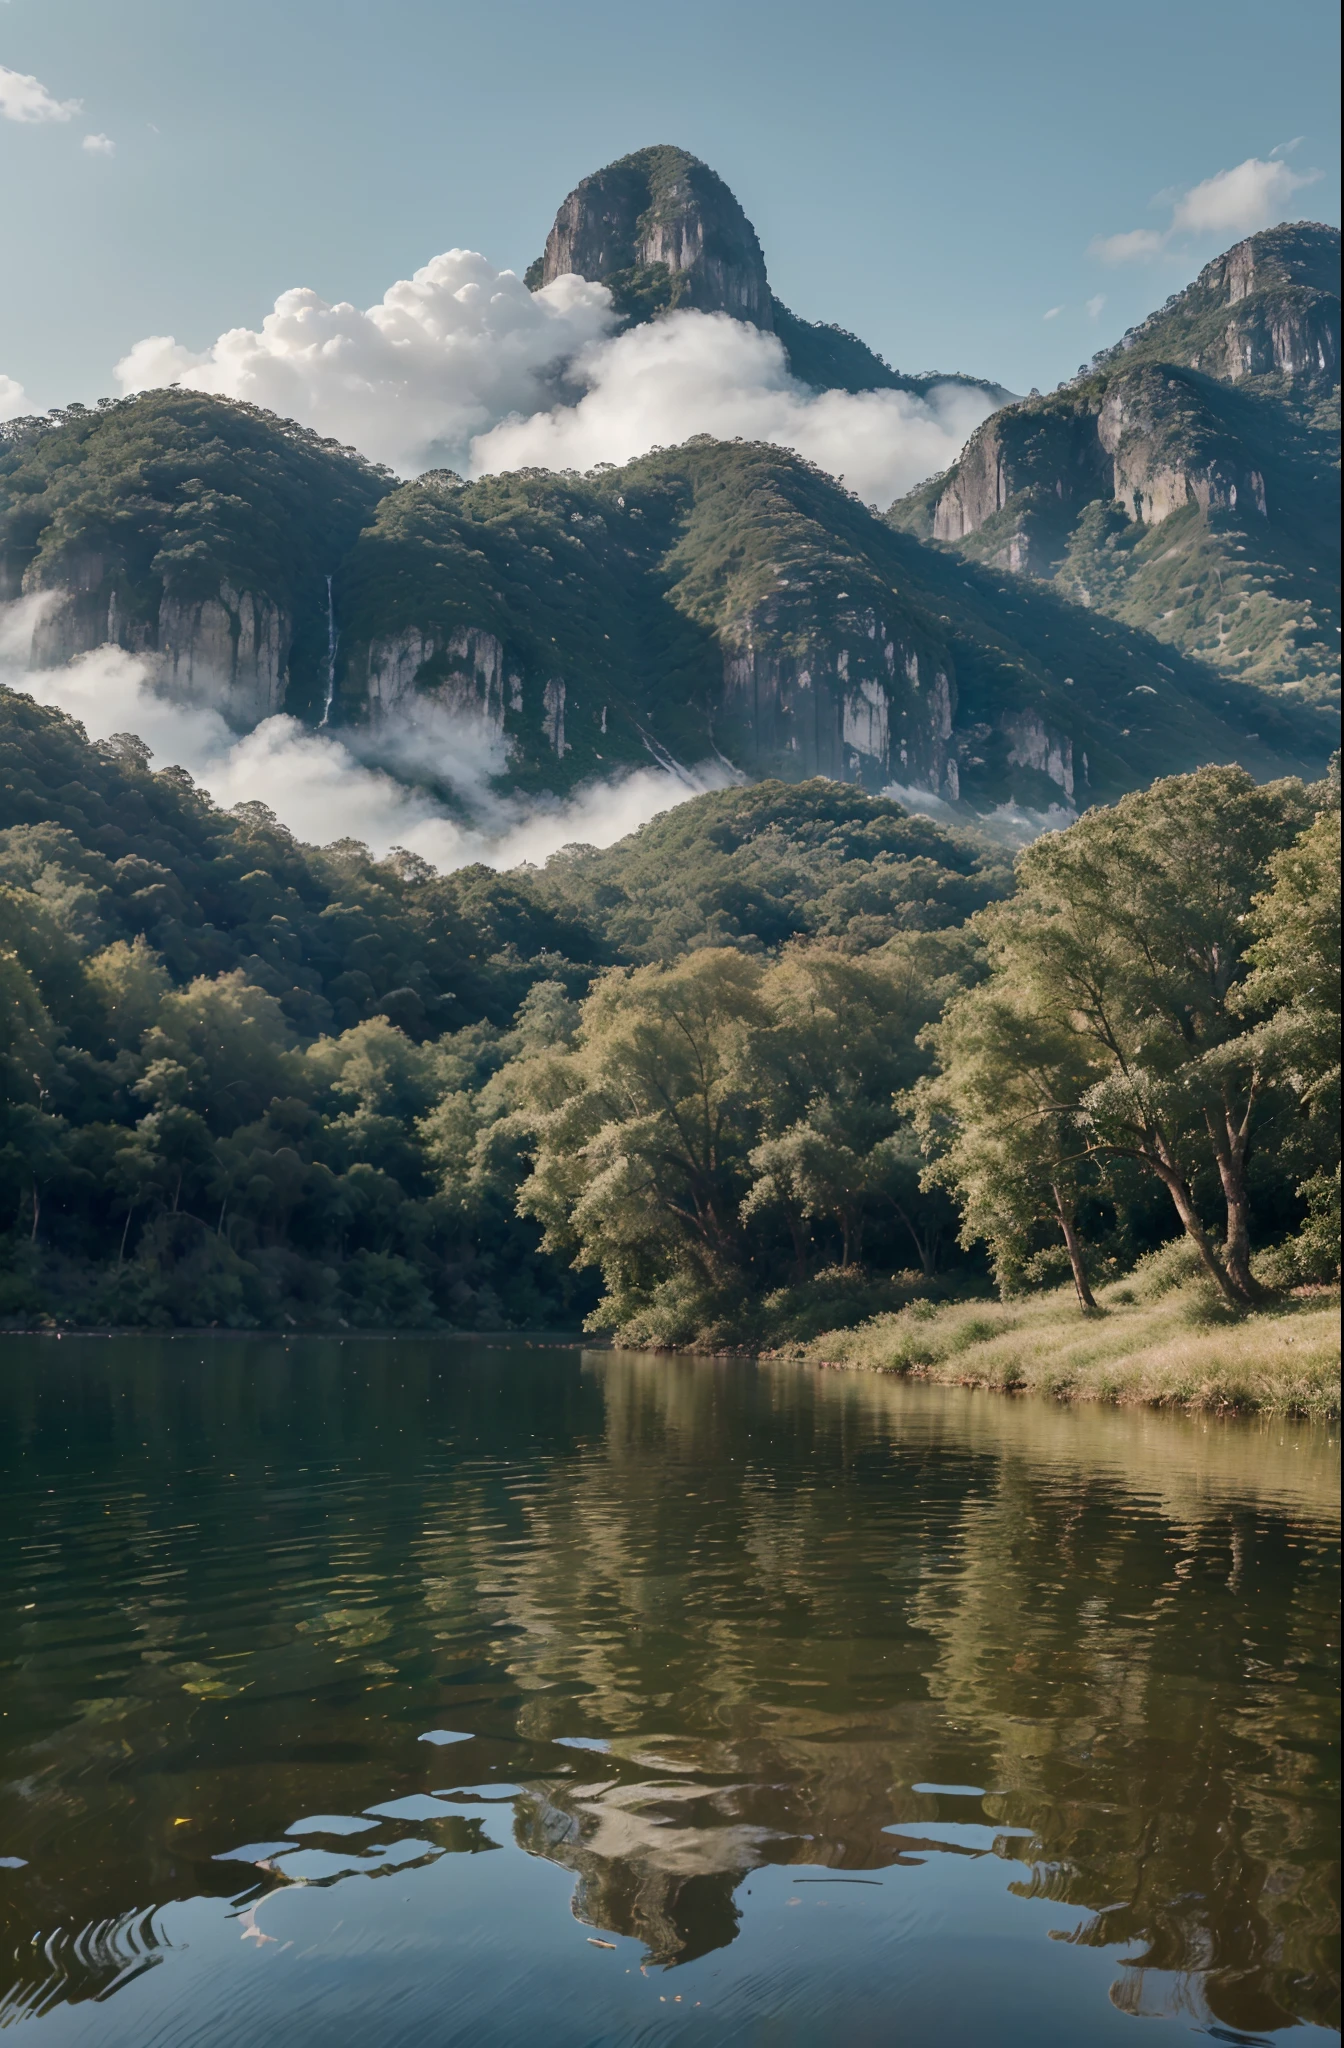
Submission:
[[[1332,227],[1237,244],[1074,383],[985,420],[891,522],[1332,700],[1338,266]]]

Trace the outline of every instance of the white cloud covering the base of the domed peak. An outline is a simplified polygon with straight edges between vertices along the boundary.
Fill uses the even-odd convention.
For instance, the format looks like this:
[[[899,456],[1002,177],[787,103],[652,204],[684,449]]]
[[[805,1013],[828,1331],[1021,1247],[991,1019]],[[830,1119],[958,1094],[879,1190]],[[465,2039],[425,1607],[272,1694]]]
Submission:
[[[572,365],[578,406],[506,420],[471,444],[471,473],[590,469],[625,463],[690,434],[770,440],[887,504],[959,455],[994,399],[936,385],[906,391],[811,391],[789,375],[772,334],[727,313],[670,313],[594,342]]]

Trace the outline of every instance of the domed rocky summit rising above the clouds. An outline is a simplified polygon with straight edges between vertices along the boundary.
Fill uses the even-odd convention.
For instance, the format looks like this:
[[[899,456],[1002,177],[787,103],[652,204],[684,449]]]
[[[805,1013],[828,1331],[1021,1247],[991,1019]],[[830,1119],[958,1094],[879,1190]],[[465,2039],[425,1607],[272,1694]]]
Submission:
[[[670,145],[576,184],[547,236],[541,283],[568,272],[617,287],[662,272],[664,305],[774,326],[756,229],[709,164]]]

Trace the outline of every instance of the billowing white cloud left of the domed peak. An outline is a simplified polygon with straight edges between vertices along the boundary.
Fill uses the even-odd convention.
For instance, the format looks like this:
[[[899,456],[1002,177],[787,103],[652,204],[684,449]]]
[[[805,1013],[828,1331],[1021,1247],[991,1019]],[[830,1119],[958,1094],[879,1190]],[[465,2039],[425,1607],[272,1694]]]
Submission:
[[[250,399],[400,471],[461,467],[473,434],[551,406],[559,367],[613,322],[604,285],[561,276],[533,293],[512,270],[449,250],[367,311],[297,289],[260,332],[232,328],[199,354],[148,336],[117,379],[123,391],[182,383]]]

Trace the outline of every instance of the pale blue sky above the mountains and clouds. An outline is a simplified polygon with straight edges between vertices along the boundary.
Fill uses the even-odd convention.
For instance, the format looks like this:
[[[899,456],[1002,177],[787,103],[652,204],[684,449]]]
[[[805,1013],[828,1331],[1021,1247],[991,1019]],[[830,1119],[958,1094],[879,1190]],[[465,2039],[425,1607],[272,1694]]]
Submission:
[[[55,104],[10,88],[27,119],[0,119],[25,410],[293,285],[369,305],[455,244],[520,270],[565,190],[647,141],[727,178],[799,313],[1018,391],[1237,238],[1209,225],[1237,193],[1182,215],[1190,188],[1258,160],[1270,211],[1340,205],[1326,0],[0,0],[0,66]],[[1127,260],[1094,248],[1135,231]]]

